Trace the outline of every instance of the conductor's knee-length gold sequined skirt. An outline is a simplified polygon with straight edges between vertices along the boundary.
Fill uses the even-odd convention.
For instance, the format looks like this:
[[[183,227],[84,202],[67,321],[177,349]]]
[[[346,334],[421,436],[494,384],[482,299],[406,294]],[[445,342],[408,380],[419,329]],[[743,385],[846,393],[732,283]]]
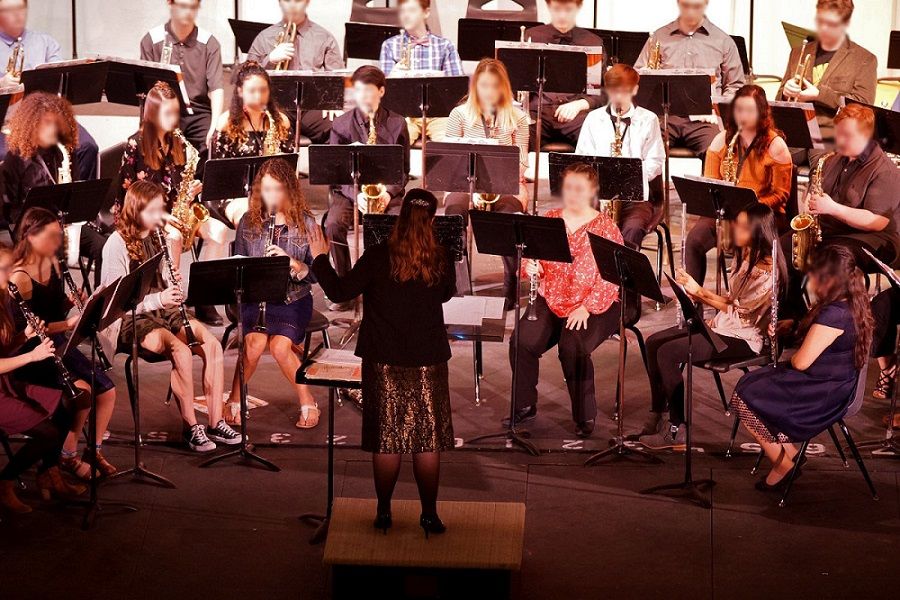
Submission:
[[[453,448],[447,363],[397,367],[363,360],[362,448],[381,454]]]

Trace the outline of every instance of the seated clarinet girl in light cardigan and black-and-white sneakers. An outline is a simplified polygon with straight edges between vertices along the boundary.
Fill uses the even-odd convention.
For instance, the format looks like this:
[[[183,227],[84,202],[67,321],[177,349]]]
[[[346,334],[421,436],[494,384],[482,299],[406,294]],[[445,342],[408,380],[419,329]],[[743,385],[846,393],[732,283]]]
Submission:
[[[165,216],[166,191],[161,185],[143,180],[134,182],[128,188],[116,221],[116,231],[103,247],[103,285],[110,285],[162,251],[155,234],[165,225]],[[180,251],[177,244],[172,244],[171,240],[167,242],[170,256]],[[177,268],[173,270],[179,277],[178,282],[171,281],[168,275],[164,276],[165,270],[167,266],[163,260],[150,293],[137,307],[134,324],[130,317],[126,317],[100,332],[104,351],[108,356],[119,349],[130,352],[137,336],[141,348],[162,354],[171,361],[172,393],[178,401],[185,425],[184,442],[191,450],[210,452],[215,450],[217,442],[238,444],[240,434],[222,418],[223,402],[215,401],[224,395],[222,345],[203,324],[191,320],[191,330],[200,343],[197,353],[203,359],[203,393],[209,411],[209,427],[204,428],[197,423],[193,351],[188,346],[185,323],[179,311],[184,293]]]

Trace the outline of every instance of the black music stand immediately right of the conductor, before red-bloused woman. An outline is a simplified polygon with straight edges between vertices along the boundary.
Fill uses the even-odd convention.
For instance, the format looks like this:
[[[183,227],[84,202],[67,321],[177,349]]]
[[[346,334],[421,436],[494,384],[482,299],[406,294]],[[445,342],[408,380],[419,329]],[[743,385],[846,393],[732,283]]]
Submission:
[[[522,259],[549,260],[554,262],[572,262],[569,251],[569,237],[566,224],[560,219],[538,217],[518,213],[505,214],[481,210],[470,210],[469,219],[475,244],[481,254],[494,256],[515,256],[516,265]],[[522,269],[516,268],[516,289],[522,285]],[[516,430],[516,383],[519,373],[519,321],[522,316],[522,300],[516,294],[515,320],[513,321],[513,369],[512,389],[509,398],[509,424],[504,431],[480,435],[469,440],[470,444],[490,439],[504,439],[511,446],[538,456],[540,452],[534,444],[526,440],[527,431]]]

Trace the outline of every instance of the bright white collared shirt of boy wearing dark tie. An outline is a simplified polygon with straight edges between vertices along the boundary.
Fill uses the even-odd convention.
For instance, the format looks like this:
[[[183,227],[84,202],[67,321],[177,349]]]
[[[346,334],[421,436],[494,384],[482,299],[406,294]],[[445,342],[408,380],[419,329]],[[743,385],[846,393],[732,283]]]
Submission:
[[[644,166],[644,199],[650,199],[649,182],[662,173],[666,151],[663,146],[662,133],[659,129],[659,117],[640,106],[632,106],[622,115],[629,119],[628,129],[622,138],[622,156],[640,158]],[[620,125],[622,129],[625,124]],[[611,156],[612,143],[615,139],[613,119],[609,105],[592,110],[584,119],[575,154],[585,156]]]

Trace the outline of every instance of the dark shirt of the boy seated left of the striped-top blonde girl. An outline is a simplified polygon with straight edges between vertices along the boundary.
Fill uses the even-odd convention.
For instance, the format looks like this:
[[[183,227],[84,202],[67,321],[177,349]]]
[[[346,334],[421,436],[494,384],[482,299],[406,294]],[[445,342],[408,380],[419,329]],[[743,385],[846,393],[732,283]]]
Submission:
[[[354,108],[334,120],[331,126],[329,144],[365,144],[369,139],[369,118],[363,111]],[[391,198],[403,195],[403,188],[409,179],[409,127],[406,119],[383,106],[375,113],[375,139],[377,144],[399,144],[403,146],[403,184],[389,185],[387,191]],[[339,188],[341,194],[353,198],[355,190],[352,185]]]

